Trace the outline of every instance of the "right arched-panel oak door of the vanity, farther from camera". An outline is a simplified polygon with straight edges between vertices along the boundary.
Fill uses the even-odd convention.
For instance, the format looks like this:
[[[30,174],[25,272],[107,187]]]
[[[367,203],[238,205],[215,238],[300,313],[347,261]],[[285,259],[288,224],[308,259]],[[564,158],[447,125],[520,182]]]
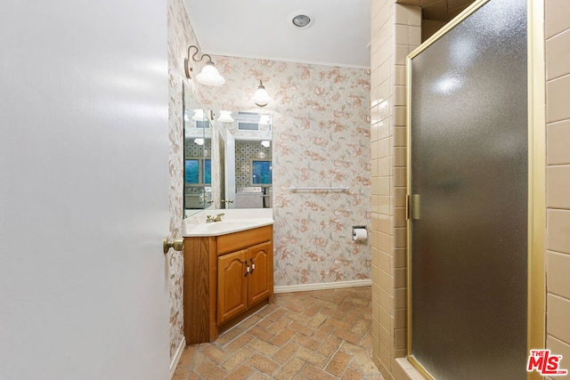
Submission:
[[[273,281],[273,247],[270,241],[248,248],[248,306],[268,298]]]

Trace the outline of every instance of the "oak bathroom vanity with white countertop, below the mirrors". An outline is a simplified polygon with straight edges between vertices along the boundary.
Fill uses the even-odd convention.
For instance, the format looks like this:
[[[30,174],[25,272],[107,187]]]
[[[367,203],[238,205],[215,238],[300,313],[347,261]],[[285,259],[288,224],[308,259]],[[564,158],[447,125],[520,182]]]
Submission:
[[[212,342],[220,331],[273,302],[272,214],[218,211],[224,213],[221,222],[200,220],[217,211],[184,221],[186,344]]]

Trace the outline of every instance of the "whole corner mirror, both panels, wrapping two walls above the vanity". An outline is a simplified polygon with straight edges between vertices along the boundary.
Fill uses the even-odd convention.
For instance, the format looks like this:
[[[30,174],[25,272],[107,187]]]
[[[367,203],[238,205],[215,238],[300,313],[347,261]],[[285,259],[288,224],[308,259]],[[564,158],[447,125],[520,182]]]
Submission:
[[[183,130],[184,217],[273,207],[271,114],[201,109],[183,85]]]

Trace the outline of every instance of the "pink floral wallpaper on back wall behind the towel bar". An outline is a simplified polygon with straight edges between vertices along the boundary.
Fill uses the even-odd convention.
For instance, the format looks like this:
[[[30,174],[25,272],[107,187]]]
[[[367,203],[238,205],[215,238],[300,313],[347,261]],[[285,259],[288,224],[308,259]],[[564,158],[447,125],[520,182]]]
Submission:
[[[271,112],[275,286],[371,278],[370,70],[212,56],[225,77],[206,109]],[[273,101],[251,97],[263,80]],[[291,191],[345,186],[347,191]]]

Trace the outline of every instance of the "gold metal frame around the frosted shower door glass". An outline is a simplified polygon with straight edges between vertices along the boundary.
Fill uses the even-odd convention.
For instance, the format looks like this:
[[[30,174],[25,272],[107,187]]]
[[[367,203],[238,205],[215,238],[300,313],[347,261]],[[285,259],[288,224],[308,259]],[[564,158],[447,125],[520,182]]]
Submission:
[[[407,359],[428,379],[429,372],[411,357],[411,59],[423,52],[445,33],[476,12],[490,0],[476,0],[429,37],[406,58],[406,138],[407,138],[407,183],[406,183],[406,350]],[[545,39],[544,0],[527,0],[527,87],[528,87],[528,219],[527,219],[527,352],[545,347],[545,235],[546,235],[546,107],[545,107]],[[542,379],[536,372],[527,373],[527,380]]]

